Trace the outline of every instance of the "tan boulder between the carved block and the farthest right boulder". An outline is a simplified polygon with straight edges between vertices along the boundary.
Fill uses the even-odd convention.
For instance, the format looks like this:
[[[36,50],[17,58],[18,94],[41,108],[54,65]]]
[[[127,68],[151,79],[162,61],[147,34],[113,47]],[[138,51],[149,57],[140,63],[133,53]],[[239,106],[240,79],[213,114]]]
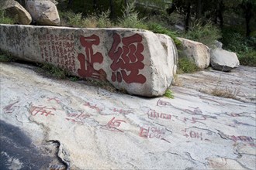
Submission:
[[[189,59],[195,61],[195,65],[200,69],[205,69],[209,66],[209,48],[201,42],[195,42],[189,39],[178,38],[182,41],[184,53]]]

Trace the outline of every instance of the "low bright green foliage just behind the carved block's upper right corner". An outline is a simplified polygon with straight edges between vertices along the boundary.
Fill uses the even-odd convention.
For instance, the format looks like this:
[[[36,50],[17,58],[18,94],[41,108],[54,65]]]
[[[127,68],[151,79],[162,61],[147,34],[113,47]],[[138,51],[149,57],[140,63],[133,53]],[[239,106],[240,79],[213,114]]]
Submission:
[[[176,32],[172,32],[170,29],[167,29],[161,25],[158,25],[157,23],[149,22],[147,24],[147,28],[154,33],[160,33],[160,34],[165,34],[167,36],[170,36],[171,39],[174,40],[176,46],[180,46],[182,44],[181,41],[177,39]]]

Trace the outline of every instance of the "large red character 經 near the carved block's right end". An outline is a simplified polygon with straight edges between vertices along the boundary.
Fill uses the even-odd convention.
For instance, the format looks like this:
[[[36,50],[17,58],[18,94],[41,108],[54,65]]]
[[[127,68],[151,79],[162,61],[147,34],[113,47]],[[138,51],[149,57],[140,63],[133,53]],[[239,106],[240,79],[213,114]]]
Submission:
[[[133,36],[121,37],[118,34],[113,35],[114,42],[109,51],[109,57],[113,60],[110,68],[112,70],[112,81],[121,83],[145,83],[146,77],[139,74],[139,70],[144,69],[144,56],[141,54],[144,50],[142,36],[135,34]],[[120,47],[119,44],[123,43]],[[137,45],[137,46],[136,46]]]

